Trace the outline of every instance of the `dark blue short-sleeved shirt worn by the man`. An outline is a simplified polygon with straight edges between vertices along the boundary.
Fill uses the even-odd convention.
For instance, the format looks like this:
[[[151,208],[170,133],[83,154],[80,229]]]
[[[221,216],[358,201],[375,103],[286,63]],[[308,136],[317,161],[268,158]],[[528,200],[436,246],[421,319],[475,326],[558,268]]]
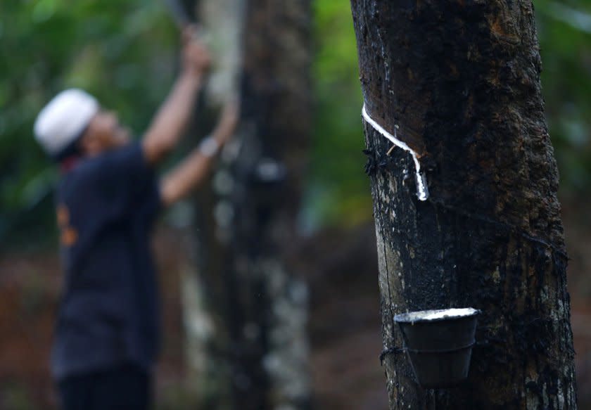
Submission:
[[[65,283],[52,352],[58,379],[158,353],[159,303],[150,231],[160,207],[141,146],[88,158],[57,193]]]

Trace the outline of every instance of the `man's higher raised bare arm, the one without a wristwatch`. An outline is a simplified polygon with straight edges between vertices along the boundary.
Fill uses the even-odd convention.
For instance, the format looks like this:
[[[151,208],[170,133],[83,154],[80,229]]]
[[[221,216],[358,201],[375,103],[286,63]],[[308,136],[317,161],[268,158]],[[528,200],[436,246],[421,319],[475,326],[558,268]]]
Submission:
[[[162,160],[177,145],[193,112],[203,74],[211,62],[208,50],[194,38],[194,32],[194,27],[187,27],[183,33],[182,72],[141,141],[146,161],[151,165]]]

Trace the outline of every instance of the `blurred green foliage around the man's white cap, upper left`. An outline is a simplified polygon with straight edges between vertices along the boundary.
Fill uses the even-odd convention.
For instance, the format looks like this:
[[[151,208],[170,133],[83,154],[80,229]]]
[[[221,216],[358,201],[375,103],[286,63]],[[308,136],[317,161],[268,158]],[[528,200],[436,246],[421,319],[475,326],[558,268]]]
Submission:
[[[0,242],[12,242],[54,231],[39,110],[80,87],[141,132],[170,87],[177,32],[161,1],[3,1],[0,15]]]

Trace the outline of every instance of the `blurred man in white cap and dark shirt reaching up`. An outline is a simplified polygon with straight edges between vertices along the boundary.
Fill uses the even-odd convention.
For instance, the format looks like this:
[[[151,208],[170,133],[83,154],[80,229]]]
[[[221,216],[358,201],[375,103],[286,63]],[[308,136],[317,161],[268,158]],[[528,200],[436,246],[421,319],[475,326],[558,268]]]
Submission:
[[[151,224],[203,181],[237,122],[230,103],[212,136],[156,181],[153,168],[179,141],[210,65],[191,32],[182,72],[141,141],[130,142],[117,117],[77,89],[58,94],[35,122],[37,141],[63,170],[65,288],[51,368],[65,410],[149,407],[159,336]]]

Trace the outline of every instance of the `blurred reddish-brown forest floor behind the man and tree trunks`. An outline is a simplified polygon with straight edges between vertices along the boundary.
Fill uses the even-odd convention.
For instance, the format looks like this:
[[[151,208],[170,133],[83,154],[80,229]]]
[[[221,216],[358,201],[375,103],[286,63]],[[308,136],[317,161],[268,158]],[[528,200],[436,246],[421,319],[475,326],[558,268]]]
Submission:
[[[579,409],[591,409],[591,214],[564,205],[577,352]],[[322,231],[300,246],[310,283],[314,404],[322,410],[387,409],[379,363],[381,328],[374,226]],[[179,235],[160,226],[155,238],[164,305],[158,409],[189,409],[185,380]],[[61,286],[53,252],[0,255],[0,410],[56,409],[49,347]]]

